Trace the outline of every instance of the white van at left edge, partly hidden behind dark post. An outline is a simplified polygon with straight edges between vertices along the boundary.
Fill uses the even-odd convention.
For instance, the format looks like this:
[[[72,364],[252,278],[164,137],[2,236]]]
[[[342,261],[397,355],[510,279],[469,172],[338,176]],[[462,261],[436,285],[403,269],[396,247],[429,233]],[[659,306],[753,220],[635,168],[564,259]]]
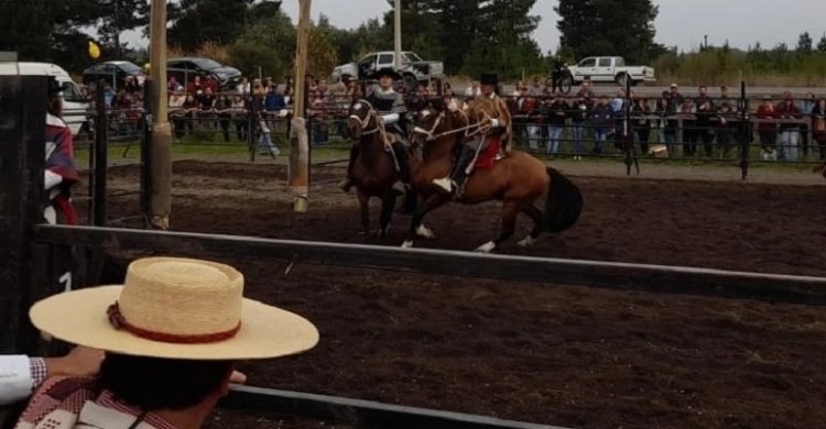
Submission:
[[[72,130],[72,135],[77,135],[83,124],[87,121],[89,100],[84,99],[69,74],[63,67],[50,63],[18,63],[0,62],[0,76],[54,76],[63,86],[63,120]]]

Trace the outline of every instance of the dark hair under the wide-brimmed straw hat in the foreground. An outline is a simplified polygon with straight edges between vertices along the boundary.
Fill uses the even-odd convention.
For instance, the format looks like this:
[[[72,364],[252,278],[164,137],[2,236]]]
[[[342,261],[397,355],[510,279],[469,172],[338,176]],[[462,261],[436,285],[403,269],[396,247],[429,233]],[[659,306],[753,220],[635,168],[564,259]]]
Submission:
[[[232,361],[187,361],[107,353],[99,386],[144,411],[181,410],[220,388]]]

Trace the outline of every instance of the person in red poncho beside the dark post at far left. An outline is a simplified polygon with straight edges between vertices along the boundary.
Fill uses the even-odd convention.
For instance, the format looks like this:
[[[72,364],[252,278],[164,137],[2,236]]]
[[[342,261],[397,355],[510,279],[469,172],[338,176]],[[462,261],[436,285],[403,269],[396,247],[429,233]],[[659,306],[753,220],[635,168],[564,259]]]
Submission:
[[[72,186],[79,179],[75,169],[75,148],[72,131],[61,119],[63,87],[54,78],[48,80],[46,111],[46,164],[43,183],[51,204],[44,215],[50,223],[77,224],[77,213],[69,199]]]

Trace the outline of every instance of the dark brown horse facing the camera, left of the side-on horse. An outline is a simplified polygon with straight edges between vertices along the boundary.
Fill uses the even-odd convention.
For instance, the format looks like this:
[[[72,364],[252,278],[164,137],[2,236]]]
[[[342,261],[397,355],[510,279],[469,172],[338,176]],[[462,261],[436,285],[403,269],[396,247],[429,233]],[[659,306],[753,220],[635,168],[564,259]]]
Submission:
[[[393,184],[399,180],[399,172],[390,151],[388,134],[372,105],[367,100],[354,101],[347,123],[350,136],[359,141],[358,156],[352,165],[352,184],[356,186],[361,209],[361,226],[365,233],[369,233],[370,198],[379,198],[381,200],[379,237],[383,239],[390,230],[390,219],[398,196]],[[415,200],[415,196],[409,191],[409,200],[411,199]]]

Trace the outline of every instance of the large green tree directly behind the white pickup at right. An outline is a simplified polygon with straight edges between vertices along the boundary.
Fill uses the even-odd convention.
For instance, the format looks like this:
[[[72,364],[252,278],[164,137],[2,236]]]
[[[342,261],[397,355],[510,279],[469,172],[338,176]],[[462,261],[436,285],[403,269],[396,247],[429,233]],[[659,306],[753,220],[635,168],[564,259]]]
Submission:
[[[559,0],[559,44],[577,59],[591,55],[621,55],[645,62],[664,53],[654,43],[659,8],[651,0]]]

